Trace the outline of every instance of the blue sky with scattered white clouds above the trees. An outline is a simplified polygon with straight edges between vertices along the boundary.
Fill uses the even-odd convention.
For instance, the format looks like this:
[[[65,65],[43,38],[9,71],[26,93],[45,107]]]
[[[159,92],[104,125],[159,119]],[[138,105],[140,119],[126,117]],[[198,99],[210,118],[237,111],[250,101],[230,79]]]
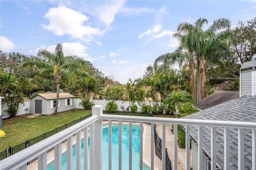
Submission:
[[[0,49],[36,55],[54,52],[90,61],[122,84],[142,77],[159,55],[172,52],[178,24],[206,18],[210,26],[227,18],[256,17],[256,0],[248,1],[0,1]]]

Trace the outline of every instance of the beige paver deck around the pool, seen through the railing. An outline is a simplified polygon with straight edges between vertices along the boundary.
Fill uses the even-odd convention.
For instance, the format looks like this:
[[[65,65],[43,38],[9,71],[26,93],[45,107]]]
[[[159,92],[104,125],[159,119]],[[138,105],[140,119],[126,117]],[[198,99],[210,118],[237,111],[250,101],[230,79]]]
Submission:
[[[104,121],[104,123],[108,123],[108,121]],[[115,123],[115,121],[113,121]],[[118,123],[118,122],[116,122]],[[145,142],[144,144],[144,158],[143,161],[146,165],[150,166],[150,141],[151,139],[151,134],[150,134],[150,125],[144,123],[144,130],[146,130],[146,135],[145,138],[143,139]],[[171,125],[166,125],[166,148],[170,157],[170,160],[172,162],[173,160],[173,134],[172,134],[172,126]],[[160,138],[162,138],[162,124],[156,124],[156,131]],[[83,130],[82,130],[82,136]],[[76,135],[73,136],[73,144],[76,143]],[[66,141],[62,143],[62,153],[66,151]],[[154,148],[155,152],[155,148]],[[178,169],[179,170],[185,170],[185,149],[178,148]],[[47,164],[50,164],[54,160],[54,149],[52,149],[50,152],[47,153]],[[191,150],[190,150],[190,167],[191,167]],[[38,160],[34,160],[27,166],[27,170],[37,170],[38,169]],[[162,161],[154,154],[154,169],[155,170],[161,170],[162,169]],[[173,169],[173,163],[172,163],[172,169]]]

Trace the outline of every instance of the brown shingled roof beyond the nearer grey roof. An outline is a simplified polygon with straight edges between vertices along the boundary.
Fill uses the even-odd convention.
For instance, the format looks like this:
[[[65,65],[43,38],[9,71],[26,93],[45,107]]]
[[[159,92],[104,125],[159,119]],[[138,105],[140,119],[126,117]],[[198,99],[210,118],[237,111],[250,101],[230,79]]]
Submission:
[[[194,106],[200,110],[204,110],[238,97],[239,91],[216,90],[214,93],[195,103]]]

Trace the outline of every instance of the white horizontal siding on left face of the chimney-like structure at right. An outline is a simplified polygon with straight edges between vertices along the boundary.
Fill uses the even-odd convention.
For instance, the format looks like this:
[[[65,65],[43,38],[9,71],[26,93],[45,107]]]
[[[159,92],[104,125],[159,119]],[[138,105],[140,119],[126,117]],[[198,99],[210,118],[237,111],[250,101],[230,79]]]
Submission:
[[[252,72],[241,73],[241,96],[252,95]]]

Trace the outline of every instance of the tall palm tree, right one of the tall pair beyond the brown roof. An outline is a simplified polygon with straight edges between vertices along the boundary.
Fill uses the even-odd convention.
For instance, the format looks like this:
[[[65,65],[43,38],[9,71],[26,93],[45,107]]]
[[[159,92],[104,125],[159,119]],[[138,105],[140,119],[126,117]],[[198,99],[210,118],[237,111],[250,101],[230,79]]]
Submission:
[[[197,26],[197,23],[195,25]],[[216,63],[221,59],[232,57],[232,53],[226,44],[226,40],[231,41],[233,38],[233,31],[230,28],[230,20],[225,18],[215,20],[206,31],[203,31],[202,27],[198,28],[195,49],[197,57],[198,101],[205,97],[205,60]]]

